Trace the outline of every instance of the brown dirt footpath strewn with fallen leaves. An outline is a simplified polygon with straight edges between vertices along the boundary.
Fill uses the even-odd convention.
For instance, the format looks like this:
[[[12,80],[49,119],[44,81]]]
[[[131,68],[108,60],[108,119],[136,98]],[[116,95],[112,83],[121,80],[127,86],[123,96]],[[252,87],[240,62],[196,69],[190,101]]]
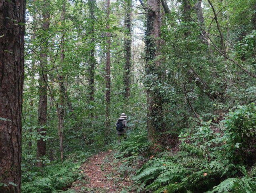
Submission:
[[[68,192],[75,193],[135,193],[136,188],[128,177],[120,177],[118,160],[114,152],[100,152],[80,167],[83,179],[72,183]]]

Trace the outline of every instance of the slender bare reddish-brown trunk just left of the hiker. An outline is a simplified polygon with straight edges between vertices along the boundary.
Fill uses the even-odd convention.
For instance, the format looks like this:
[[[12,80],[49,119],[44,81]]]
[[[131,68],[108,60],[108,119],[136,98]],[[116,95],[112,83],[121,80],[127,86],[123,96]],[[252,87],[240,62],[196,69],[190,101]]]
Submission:
[[[109,29],[109,13],[110,13],[110,0],[107,0],[107,26],[106,29]],[[106,32],[106,93],[105,93],[105,100],[106,100],[106,121],[105,126],[106,128],[110,128],[110,32]]]

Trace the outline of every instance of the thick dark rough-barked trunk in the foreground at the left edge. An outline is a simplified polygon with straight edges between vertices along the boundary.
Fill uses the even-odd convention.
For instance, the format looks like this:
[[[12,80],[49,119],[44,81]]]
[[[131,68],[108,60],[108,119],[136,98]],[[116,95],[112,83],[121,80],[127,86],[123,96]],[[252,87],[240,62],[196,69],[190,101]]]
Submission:
[[[2,193],[21,192],[25,0],[0,1],[0,182]],[[11,185],[14,183],[17,186]]]

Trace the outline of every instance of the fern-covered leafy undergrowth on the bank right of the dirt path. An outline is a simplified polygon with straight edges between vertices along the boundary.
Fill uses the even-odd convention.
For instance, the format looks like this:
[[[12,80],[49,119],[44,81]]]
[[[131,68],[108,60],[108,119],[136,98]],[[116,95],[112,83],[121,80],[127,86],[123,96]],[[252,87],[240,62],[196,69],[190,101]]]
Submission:
[[[144,191],[154,193],[254,193],[256,106],[230,110],[218,124],[204,122],[180,132],[178,152],[148,152],[146,131],[138,130],[118,147],[120,170]],[[144,161],[142,161],[144,159]],[[128,172],[129,171],[129,172]]]

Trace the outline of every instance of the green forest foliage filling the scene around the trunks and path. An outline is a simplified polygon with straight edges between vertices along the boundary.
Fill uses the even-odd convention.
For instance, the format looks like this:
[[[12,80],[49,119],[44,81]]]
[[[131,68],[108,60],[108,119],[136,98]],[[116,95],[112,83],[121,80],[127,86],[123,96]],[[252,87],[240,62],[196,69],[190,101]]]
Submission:
[[[189,21],[184,20],[184,2],[190,4],[190,10],[187,10],[191,17]],[[131,92],[130,97],[124,98],[126,53],[123,44],[127,34],[120,16],[125,9],[124,2],[112,2],[108,21],[110,29],[106,30],[106,11],[101,9],[101,6],[104,7],[102,2],[97,1],[94,5],[95,20],[91,20],[90,4],[80,0],[66,1],[64,24],[60,22],[63,0],[50,1],[50,28],[44,31],[41,16],[49,8],[40,0],[26,1],[28,22],[22,112],[23,192],[57,192],[79,177],[76,171],[79,163],[92,153],[108,149],[112,146],[109,145],[111,142],[116,143],[114,122],[122,112],[128,114],[130,126],[128,138],[115,145],[119,151],[115,155],[117,161],[124,161],[119,168],[123,176],[133,175],[140,168],[133,179],[142,183],[145,189],[159,193],[255,191],[256,167],[253,166],[253,155],[256,153],[256,106],[251,102],[256,100],[256,81],[217,51],[214,46],[220,50],[223,48],[216,22],[212,19],[212,9],[207,1],[203,1],[203,29],[204,26],[199,26],[197,22],[198,16],[193,8],[195,2],[168,2],[171,14],[170,18],[162,21],[162,45],[157,50],[161,53],[158,57],[142,53],[145,46],[141,41],[143,35],[138,34],[145,30],[141,27],[145,14],[132,14],[134,60],[131,61]],[[254,0],[223,0],[212,3],[218,12],[228,57],[255,73]],[[141,13],[140,8],[132,11]],[[206,30],[211,39],[200,39],[202,30]],[[111,32],[112,43],[112,128],[105,128],[104,125],[106,31]],[[45,39],[48,39],[48,43],[42,43]],[[152,40],[151,37],[145,39],[146,43]],[[62,42],[65,43],[62,52],[65,55],[64,61],[60,59]],[[50,96],[48,92],[48,122],[44,126],[47,128],[46,136],[37,132],[40,128],[38,74],[42,71],[41,43],[48,47],[48,64],[44,70],[52,93]],[[34,50],[30,52],[32,49]],[[153,47],[151,51],[155,49],[157,47]],[[94,58],[91,51],[94,51]],[[150,60],[153,57],[160,61],[157,70],[154,61],[145,68],[144,58]],[[92,59],[95,62],[94,101],[90,101],[88,86]],[[147,75],[145,71],[148,72]],[[60,107],[65,112],[63,144],[66,161],[63,163],[56,161],[60,158],[60,148],[56,106],[53,101],[53,97],[57,102],[60,100],[60,74],[64,77],[66,89],[65,102]],[[147,89],[157,99],[154,101],[157,105],[162,103],[159,108],[161,112],[151,114],[150,118],[155,126],[162,127],[163,123],[166,126],[161,134],[161,145],[172,153],[152,155],[148,150]],[[8,121],[1,117],[0,120]],[[178,136],[178,141],[172,134]],[[36,157],[36,142],[40,138],[47,141],[47,153],[43,158]],[[149,159],[151,156],[154,157]],[[72,161],[68,161],[70,158]],[[44,169],[36,167],[38,161],[46,164]],[[246,170],[250,167],[252,169],[247,173]]]

